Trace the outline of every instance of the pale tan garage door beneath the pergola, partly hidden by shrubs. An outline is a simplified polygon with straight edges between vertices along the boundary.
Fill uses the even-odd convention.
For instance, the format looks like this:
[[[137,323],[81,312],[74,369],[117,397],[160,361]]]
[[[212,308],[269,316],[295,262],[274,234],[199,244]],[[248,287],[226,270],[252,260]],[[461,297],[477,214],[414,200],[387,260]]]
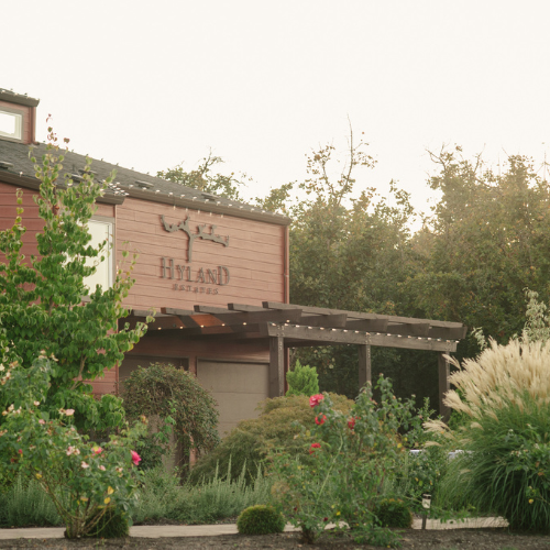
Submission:
[[[199,361],[197,377],[218,402],[223,437],[240,420],[256,418],[257,404],[268,397],[268,365]]]

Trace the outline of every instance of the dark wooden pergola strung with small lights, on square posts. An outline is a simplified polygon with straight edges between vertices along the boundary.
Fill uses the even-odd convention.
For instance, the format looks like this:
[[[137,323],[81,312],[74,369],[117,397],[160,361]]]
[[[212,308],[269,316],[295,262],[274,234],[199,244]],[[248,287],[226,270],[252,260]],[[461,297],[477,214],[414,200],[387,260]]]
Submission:
[[[194,310],[158,308],[150,330],[178,331],[185,340],[265,341],[270,346],[270,397],[284,395],[288,348],[352,344],[359,349],[360,387],[371,382],[371,346],[429,350],[438,353],[439,406],[450,389],[449,361],[466,333],[460,322],[343,311],[264,301],[263,307],[228,304],[227,308],[195,306]],[[121,321],[146,322],[147,311],[131,310]]]

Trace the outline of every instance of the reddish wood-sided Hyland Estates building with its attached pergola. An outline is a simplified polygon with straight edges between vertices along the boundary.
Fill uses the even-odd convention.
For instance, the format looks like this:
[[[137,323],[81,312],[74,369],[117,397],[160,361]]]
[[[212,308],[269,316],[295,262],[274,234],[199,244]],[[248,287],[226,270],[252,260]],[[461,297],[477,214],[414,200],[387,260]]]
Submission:
[[[15,188],[24,189],[25,250],[41,230],[32,194],[38,189],[29,146],[38,100],[0,89],[0,229],[15,217]],[[36,144],[40,156],[44,144]],[[64,170],[80,177],[86,157],[65,155]],[[112,253],[92,284],[109,285],[124,248],[139,253],[125,306],[130,322],[156,316],[123,363],[94,383],[112,393],[138,365],[170,362],[197,375],[219,404],[220,432],[256,415],[282,395],[286,350],[300,345],[358,345],[359,377],[370,380],[370,346],[426,349],[440,354],[440,394],[448,388],[443,353],[464,337],[461,323],[336,311],[288,304],[288,226],[282,215],[94,161],[95,178],[117,175],[97,201],[90,232],[112,240]],[[124,244],[128,243],[128,244]]]

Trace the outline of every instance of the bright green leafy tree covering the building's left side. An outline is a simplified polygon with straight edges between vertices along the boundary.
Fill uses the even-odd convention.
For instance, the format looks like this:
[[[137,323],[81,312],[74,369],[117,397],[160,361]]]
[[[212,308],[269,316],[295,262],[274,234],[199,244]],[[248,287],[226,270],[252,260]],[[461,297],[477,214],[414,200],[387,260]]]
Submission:
[[[128,315],[122,300],[134,282],[133,263],[117,270],[111,288],[90,290],[85,285],[85,277],[95,273],[108,251],[107,242],[90,245],[87,223],[112,177],[95,183],[88,160],[81,182],[68,175],[59,182],[64,155],[48,131],[46,153],[35,166],[41,185],[34,200],[44,223],[36,235],[37,255],[21,253],[25,233],[21,207],[13,226],[0,231],[0,329],[12,343],[12,362],[30,369],[43,352],[56,362],[45,397],[54,416],[70,408],[79,428],[118,426],[123,418],[120,400],[112,395],[95,400],[87,381],[122,361],[145,332],[143,323],[118,330],[118,320]],[[16,200],[22,204],[21,190]],[[95,265],[87,265],[88,258]],[[82,297],[88,297],[86,302]],[[2,393],[0,405],[9,405]]]

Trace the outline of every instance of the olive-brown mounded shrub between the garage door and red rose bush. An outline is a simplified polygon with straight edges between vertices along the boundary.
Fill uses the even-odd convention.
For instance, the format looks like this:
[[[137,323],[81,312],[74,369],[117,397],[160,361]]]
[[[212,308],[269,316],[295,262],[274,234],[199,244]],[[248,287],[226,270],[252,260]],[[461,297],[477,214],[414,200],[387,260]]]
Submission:
[[[351,409],[353,402],[350,399],[336,394],[330,396],[337,410],[346,414]],[[304,395],[267,399],[258,418],[240,421],[212,452],[197,461],[190,480],[209,480],[218,469],[235,480],[244,469],[246,481],[252,482],[272,447],[283,447],[292,455],[301,453],[302,444],[296,439],[299,428],[293,422],[310,425],[314,420],[315,413]]]

